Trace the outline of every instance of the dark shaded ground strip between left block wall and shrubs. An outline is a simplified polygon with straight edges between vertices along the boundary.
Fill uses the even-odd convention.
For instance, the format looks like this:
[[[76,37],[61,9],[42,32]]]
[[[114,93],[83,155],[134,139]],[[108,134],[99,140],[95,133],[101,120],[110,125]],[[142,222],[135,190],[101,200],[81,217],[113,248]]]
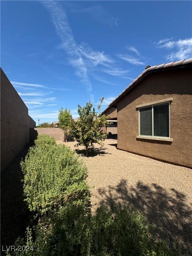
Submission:
[[[1,172],[1,250],[15,244],[23,236],[29,224],[29,210],[23,201],[23,173],[20,162],[28,153],[27,145]]]

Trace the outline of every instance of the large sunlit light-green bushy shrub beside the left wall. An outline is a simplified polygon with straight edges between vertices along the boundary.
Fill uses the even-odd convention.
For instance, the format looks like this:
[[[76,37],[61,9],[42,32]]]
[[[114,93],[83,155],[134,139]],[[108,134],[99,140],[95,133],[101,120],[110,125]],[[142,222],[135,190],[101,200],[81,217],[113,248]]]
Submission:
[[[53,143],[52,139],[39,136],[36,146],[21,161],[29,209],[42,214],[67,201],[86,207],[90,195],[85,164],[69,147],[53,143],[45,148],[47,142]]]

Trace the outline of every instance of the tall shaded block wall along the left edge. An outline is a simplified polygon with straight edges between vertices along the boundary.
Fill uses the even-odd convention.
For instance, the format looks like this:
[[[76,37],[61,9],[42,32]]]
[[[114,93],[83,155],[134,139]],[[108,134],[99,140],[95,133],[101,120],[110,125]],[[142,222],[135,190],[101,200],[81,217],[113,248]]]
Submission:
[[[1,170],[29,143],[28,108],[1,73]]]

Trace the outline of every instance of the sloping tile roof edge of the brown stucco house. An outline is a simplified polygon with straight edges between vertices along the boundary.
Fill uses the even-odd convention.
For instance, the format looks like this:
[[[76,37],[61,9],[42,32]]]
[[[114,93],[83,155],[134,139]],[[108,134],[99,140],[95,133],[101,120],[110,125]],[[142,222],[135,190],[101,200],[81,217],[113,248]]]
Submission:
[[[106,108],[104,111],[109,109],[110,107],[114,107],[117,101],[119,101],[124,94],[127,94],[129,90],[131,90],[139,81],[141,81],[145,76],[147,76],[150,73],[156,72],[156,71],[163,71],[163,70],[169,70],[169,69],[175,69],[175,68],[183,68],[186,66],[191,66],[192,65],[192,59],[188,60],[179,60],[179,61],[173,61],[169,63],[164,63],[161,65],[156,65],[156,66],[147,66],[146,69],[129,85],[125,88],[124,91],[122,91]],[[103,111],[103,112],[104,112]]]

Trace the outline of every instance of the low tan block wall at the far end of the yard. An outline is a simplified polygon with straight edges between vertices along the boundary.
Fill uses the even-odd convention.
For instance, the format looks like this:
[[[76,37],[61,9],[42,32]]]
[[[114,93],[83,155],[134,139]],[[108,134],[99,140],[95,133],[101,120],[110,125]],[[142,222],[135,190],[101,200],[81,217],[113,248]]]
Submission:
[[[64,141],[64,132],[60,128],[30,128],[29,129],[29,140],[34,141],[37,135],[47,134],[53,137],[55,140]]]

